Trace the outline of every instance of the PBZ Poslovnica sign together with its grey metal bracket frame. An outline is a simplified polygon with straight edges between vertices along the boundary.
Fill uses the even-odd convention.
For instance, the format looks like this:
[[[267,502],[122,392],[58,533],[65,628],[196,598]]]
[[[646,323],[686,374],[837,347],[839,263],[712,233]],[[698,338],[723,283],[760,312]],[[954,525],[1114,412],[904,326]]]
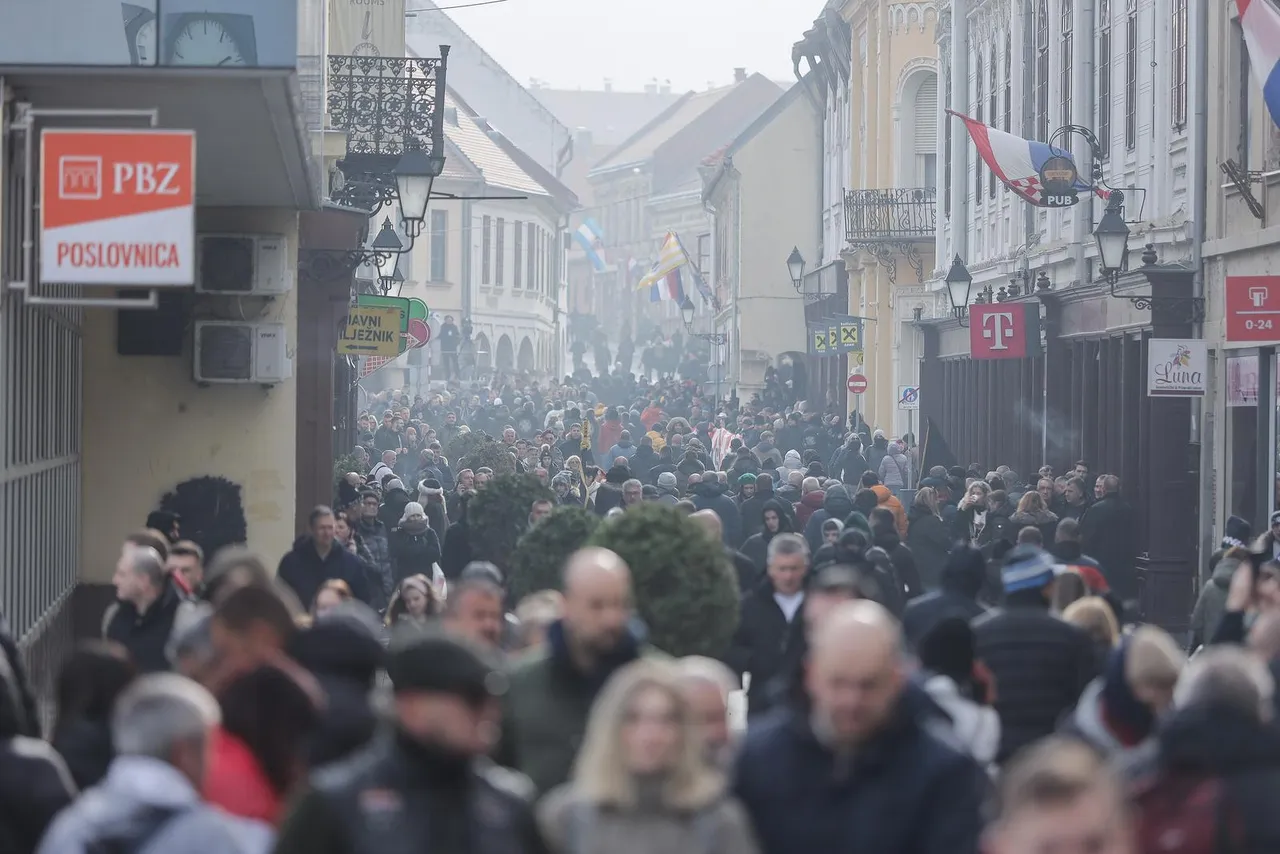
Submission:
[[[59,122],[83,123],[86,119],[110,127],[58,127]],[[23,302],[81,309],[156,309],[161,288],[189,287],[195,282],[195,133],[164,131],[159,124],[157,109],[15,105],[15,118],[0,136],[0,157],[10,147],[20,151],[20,275],[5,284],[10,291],[22,292]],[[95,146],[102,146],[101,151],[79,150],[76,141],[91,137]],[[134,150],[133,142],[143,137],[147,151],[163,150],[161,156],[111,157],[113,150]],[[37,138],[42,152],[56,150],[50,163],[37,156]],[[41,188],[38,206],[36,187]],[[59,204],[63,205],[56,215],[56,215],[49,220],[46,210],[52,197],[56,197],[55,211]],[[97,210],[90,213],[92,209]],[[146,224],[137,228],[152,236],[145,245],[128,239],[129,233],[137,230],[131,223],[138,219]],[[69,238],[68,245],[54,247],[60,256],[49,255],[50,247],[45,246],[49,232],[59,228]],[[118,234],[114,241],[113,232]],[[37,257],[37,252],[41,256]],[[147,296],[54,297],[40,293],[41,284],[145,288]]]

